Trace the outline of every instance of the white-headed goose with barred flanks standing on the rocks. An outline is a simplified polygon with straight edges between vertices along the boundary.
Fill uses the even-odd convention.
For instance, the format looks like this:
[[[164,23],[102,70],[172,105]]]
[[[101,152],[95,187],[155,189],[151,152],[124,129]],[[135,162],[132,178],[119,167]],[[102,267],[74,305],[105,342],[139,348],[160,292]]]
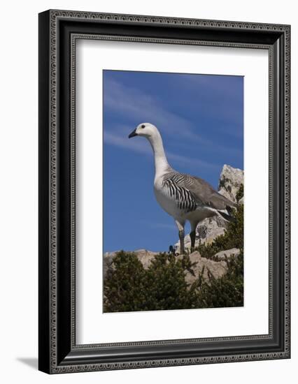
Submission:
[[[162,136],[156,126],[150,123],[139,124],[128,138],[141,136],[152,147],[155,161],[154,192],[159,205],[171,215],[178,228],[180,253],[185,253],[185,223],[190,222],[191,249],[194,248],[196,228],[200,221],[220,216],[225,221],[233,221],[232,208],[236,204],[220,195],[204,179],[174,170],[166,159]]]

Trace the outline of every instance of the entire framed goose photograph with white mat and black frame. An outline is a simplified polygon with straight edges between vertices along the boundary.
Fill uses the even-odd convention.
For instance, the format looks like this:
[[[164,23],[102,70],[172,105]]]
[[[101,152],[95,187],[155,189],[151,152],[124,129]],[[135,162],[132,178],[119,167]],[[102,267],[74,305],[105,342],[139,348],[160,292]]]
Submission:
[[[39,14],[39,369],[290,358],[290,26]]]

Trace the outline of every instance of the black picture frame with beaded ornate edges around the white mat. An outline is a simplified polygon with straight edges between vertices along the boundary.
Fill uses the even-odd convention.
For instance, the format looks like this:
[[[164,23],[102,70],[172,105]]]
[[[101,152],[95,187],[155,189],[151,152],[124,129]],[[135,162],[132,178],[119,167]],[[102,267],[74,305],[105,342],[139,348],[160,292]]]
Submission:
[[[76,345],[76,38],[269,51],[269,334]],[[290,358],[290,26],[39,14],[39,369],[48,374]],[[94,165],[95,166],[95,165]]]

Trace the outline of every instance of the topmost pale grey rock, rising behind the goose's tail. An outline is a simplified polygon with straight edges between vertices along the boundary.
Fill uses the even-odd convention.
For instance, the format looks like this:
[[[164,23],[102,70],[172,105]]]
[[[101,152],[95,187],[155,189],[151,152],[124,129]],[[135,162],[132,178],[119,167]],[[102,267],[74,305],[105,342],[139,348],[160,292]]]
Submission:
[[[236,193],[243,184],[243,170],[225,164],[220,173],[218,192],[229,200],[236,202]]]

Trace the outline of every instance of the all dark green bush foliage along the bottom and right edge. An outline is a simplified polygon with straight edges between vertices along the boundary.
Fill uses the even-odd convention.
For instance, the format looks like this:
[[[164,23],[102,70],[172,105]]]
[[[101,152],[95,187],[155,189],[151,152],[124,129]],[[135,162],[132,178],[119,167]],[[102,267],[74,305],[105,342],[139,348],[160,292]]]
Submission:
[[[234,216],[236,221],[228,224],[225,235],[197,247],[202,257],[213,260],[219,251],[239,248],[239,256],[225,257],[226,274],[215,279],[208,270],[205,279],[202,270],[190,284],[185,274],[192,273],[195,263],[187,255],[159,253],[144,269],[134,253],[120,251],[104,281],[104,312],[243,306],[243,205],[234,210]]]

